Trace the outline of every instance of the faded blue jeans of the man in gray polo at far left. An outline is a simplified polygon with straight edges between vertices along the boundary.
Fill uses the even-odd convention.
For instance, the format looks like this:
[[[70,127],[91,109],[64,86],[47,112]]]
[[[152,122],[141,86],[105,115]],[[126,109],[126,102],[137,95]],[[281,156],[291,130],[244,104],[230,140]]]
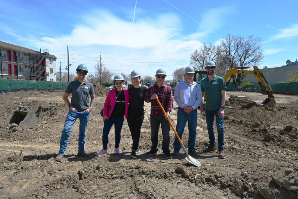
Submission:
[[[80,119],[79,152],[84,152],[86,129],[89,121],[89,112],[84,112],[84,111],[77,112],[75,110],[69,110],[65,119],[64,128],[62,130],[62,135],[60,139],[59,154],[61,155],[65,154],[67,144],[68,144],[69,134],[72,131],[72,126],[75,124],[75,121],[77,120],[77,118]]]

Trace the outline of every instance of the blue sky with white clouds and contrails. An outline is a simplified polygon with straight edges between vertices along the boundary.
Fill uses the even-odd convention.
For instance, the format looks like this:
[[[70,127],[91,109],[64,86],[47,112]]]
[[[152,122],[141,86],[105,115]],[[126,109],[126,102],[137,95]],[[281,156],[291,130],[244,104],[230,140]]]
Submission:
[[[227,34],[262,38],[260,68],[298,58],[298,1],[97,0],[1,2],[0,41],[34,50],[48,49],[59,70],[69,60],[74,73],[84,63],[95,73],[143,76],[164,68],[170,76],[187,67],[203,43],[218,44]]]

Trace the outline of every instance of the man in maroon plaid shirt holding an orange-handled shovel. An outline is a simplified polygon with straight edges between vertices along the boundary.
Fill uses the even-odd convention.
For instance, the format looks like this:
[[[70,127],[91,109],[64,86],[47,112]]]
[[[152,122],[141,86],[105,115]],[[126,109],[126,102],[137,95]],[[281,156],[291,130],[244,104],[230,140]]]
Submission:
[[[162,68],[158,69],[155,74],[156,84],[150,86],[145,93],[144,100],[151,102],[150,126],[151,126],[151,150],[147,155],[156,155],[158,148],[158,130],[159,125],[162,127],[162,153],[166,158],[172,158],[170,155],[170,123],[167,118],[173,108],[173,95],[170,87],[164,84],[164,79],[167,76],[166,71]],[[165,115],[159,104],[155,100],[159,99],[164,110],[167,112]]]

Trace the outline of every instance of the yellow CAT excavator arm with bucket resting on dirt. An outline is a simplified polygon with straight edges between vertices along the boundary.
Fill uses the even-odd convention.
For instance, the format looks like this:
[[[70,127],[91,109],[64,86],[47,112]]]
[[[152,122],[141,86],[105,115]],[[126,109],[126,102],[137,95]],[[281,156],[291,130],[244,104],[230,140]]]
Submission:
[[[257,78],[258,83],[260,85],[260,92],[263,95],[268,95],[268,98],[266,98],[262,102],[262,104],[267,104],[268,106],[275,106],[276,102],[274,100],[273,90],[269,86],[268,81],[263,75],[263,72],[258,67],[254,66],[254,70],[230,69],[224,76],[224,81],[226,82],[226,85],[229,84],[229,81],[231,80],[232,75],[235,75],[235,74],[254,74],[254,76]]]

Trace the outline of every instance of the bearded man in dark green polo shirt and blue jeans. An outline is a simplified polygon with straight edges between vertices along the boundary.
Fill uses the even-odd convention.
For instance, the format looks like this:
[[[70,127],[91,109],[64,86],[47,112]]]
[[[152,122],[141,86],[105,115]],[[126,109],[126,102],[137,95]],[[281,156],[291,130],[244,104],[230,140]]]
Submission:
[[[204,153],[215,152],[215,134],[213,129],[214,115],[216,118],[219,158],[226,158],[224,153],[224,108],[226,103],[226,83],[224,78],[214,74],[215,63],[208,61],[205,65],[207,77],[201,80],[202,89],[201,115],[206,116],[206,123],[209,135],[209,146]],[[206,98],[205,112],[203,108],[204,92]]]

